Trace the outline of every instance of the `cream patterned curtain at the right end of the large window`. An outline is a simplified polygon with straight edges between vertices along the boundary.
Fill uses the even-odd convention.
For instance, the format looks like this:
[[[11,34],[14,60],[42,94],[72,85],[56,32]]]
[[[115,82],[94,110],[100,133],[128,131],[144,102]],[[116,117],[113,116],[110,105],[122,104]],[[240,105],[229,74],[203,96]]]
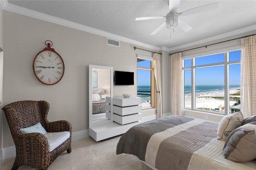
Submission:
[[[241,111],[246,118],[256,115],[256,36],[241,41]]]

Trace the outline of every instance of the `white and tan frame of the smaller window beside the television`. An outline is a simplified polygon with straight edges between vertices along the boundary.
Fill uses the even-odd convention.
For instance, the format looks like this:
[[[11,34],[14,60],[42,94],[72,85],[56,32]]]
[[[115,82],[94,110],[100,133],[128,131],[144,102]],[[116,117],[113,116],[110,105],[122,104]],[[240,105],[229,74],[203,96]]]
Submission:
[[[150,61],[151,67],[140,67],[140,66],[137,66],[137,70],[141,69],[141,70],[149,70],[150,71],[150,74],[151,74],[151,99],[150,99],[151,100],[151,107],[145,107],[145,108],[142,108],[142,110],[154,109],[154,108],[156,108],[156,104],[155,104],[155,101],[156,101],[156,94],[155,94],[156,93],[156,80],[155,80],[155,75],[154,75],[154,64],[153,64],[153,61],[148,56],[139,57],[139,55],[138,55],[138,57],[136,59],[137,60],[138,59],[142,59],[142,60]],[[138,71],[137,71],[137,78],[138,78]],[[138,83],[137,83],[137,95],[138,95]]]

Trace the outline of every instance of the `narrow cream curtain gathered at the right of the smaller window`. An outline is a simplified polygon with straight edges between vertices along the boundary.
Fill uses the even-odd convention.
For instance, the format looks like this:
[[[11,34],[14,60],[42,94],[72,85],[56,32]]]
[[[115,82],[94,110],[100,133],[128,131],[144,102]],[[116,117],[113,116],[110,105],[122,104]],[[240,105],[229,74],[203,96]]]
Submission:
[[[157,94],[157,104],[156,104],[156,118],[163,117],[162,115],[162,86],[161,86],[161,68],[160,68],[160,54],[153,54],[153,65],[154,65],[154,75],[156,79],[156,94]]]

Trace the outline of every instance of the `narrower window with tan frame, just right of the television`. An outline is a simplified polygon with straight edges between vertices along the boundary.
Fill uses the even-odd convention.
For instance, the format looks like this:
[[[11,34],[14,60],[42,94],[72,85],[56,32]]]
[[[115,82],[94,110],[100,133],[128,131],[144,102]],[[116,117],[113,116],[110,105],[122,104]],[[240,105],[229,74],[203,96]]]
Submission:
[[[142,98],[142,109],[154,108],[155,77],[153,61],[137,59],[137,96]]]

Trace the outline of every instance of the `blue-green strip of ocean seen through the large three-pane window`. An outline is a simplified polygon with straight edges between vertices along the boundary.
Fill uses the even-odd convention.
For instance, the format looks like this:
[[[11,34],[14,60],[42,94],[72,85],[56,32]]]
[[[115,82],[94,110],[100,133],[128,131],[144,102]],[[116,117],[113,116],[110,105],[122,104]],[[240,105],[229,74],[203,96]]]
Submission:
[[[240,88],[240,85],[230,85],[229,89]],[[197,85],[196,93],[224,90],[224,85]],[[185,85],[185,94],[191,94],[191,86]]]

